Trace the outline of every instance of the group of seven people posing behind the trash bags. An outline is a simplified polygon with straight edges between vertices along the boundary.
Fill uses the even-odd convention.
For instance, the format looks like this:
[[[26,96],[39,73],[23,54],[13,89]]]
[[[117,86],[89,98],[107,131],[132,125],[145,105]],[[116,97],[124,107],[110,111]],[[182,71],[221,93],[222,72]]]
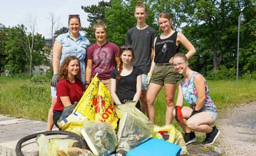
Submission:
[[[218,110],[208,94],[204,77],[188,66],[188,59],[196,54],[196,49],[185,35],[174,30],[168,13],[158,16],[159,28],[163,30],[158,37],[156,30],[145,23],[147,10],[141,1],[137,2],[134,16],[137,25],[128,30],[125,44],[119,48],[106,41],[107,27],[101,21],[93,27],[97,43],[90,46],[89,40],[79,34],[79,15],[69,15],[70,31],[59,35],[53,46],[54,76],[47,130],[51,130],[53,124],[57,126],[63,108],[78,102],[98,73],[114,104],[136,101],[136,107],[147,113],[153,124],[153,103],[164,86],[166,124],[171,124],[175,117],[185,132],[186,144],[197,141],[194,131],[207,134],[202,144],[213,144],[220,133],[215,126],[211,127]],[[179,53],[180,43],[188,50],[186,54]],[[175,106],[178,74],[184,78],[178,85]],[[183,106],[183,99],[191,106]]]

